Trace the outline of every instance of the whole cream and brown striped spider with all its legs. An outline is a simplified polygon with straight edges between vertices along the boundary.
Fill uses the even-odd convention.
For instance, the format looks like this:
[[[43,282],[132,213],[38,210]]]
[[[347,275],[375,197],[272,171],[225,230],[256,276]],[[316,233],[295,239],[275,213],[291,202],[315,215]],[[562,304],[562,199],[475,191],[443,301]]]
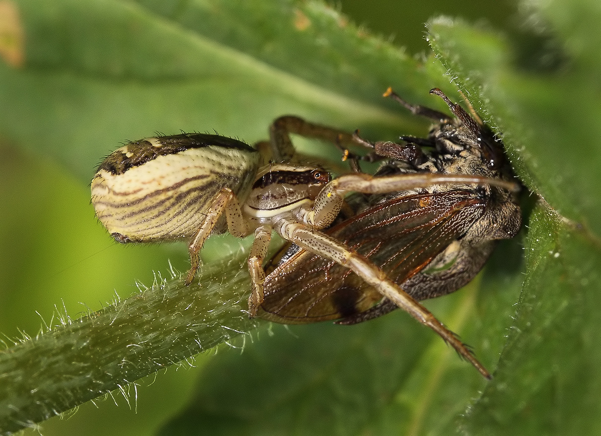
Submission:
[[[333,139],[335,144],[368,144],[336,129],[306,122],[298,126],[309,132],[307,136]],[[293,148],[286,130],[276,121],[271,132],[275,159],[290,158]],[[376,152],[382,149],[378,144],[373,145]],[[415,158],[416,165],[421,159]],[[515,183],[488,174],[435,171],[376,176],[353,172],[332,178],[322,168],[286,162],[260,167],[260,162],[260,154],[248,145],[219,135],[194,133],[130,142],[99,166],[91,183],[92,203],[100,222],[118,242],[188,241],[191,269],[186,285],[194,280],[204,241],[225,230],[222,216],[234,236],[245,237],[254,231],[248,258],[250,316],[257,314],[264,301],[262,265],[275,231],[305,252],[348,268],[385,301],[435,330],[481,374],[490,377],[465,345],[382,268],[321,230],[337,219],[349,192],[375,196],[441,186],[464,190],[496,187],[510,192],[516,190]]]

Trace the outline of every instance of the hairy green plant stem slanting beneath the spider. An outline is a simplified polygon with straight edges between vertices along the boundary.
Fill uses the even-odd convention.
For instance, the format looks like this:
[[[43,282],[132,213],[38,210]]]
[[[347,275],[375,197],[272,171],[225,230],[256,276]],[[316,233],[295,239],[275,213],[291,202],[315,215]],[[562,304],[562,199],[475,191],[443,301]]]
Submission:
[[[156,280],[126,300],[0,351],[0,434],[70,410],[256,327],[245,311],[244,256],[189,286]]]

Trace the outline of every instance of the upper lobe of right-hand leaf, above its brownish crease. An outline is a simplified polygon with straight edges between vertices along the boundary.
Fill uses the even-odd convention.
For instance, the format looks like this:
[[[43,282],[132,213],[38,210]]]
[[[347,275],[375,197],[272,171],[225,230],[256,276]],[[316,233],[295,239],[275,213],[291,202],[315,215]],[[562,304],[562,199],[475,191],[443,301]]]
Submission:
[[[595,10],[597,5],[591,6]],[[578,8],[571,11],[578,17]],[[601,103],[597,53],[570,52],[554,40],[552,23],[543,20],[546,34],[538,56],[560,57],[552,71],[525,70],[516,64],[518,50],[507,37],[475,29],[460,21],[439,19],[429,26],[437,57],[455,77],[454,82],[484,119],[502,132],[519,177],[555,211],[590,226],[601,234],[599,148],[591,147],[591,129],[599,122]],[[554,16],[560,20],[560,14]],[[560,46],[557,53],[555,47]],[[531,59],[532,60],[532,59]],[[587,67],[581,65],[586,64]],[[532,68],[532,65],[529,65]],[[545,68],[545,64],[538,68]],[[536,67],[535,67],[536,68]]]

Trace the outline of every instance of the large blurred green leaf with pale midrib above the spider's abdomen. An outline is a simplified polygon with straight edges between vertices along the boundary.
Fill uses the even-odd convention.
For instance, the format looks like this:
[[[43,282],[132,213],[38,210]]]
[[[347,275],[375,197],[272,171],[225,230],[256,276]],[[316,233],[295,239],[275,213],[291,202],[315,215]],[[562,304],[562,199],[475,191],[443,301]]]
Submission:
[[[435,84],[412,58],[361,37],[320,3],[18,4],[26,68],[0,66],[0,98],[12,109],[0,133],[86,181],[115,145],[157,131],[254,142],[294,113],[391,134],[409,123],[381,97],[386,87],[398,83],[413,97]],[[370,71],[374,64],[382,72]],[[22,129],[24,119],[35,123]]]

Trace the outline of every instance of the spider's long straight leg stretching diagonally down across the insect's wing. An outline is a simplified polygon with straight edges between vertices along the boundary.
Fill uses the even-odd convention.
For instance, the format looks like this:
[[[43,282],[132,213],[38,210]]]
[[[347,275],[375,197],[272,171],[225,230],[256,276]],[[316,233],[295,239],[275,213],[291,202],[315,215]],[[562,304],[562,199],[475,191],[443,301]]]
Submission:
[[[385,271],[377,267],[377,265],[334,238],[308,228],[303,223],[291,222],[283,217],[276,217],[274,224],[276,231],[288,241],[352,270],[353,273],[361,277],[365,283],[377,289],[388,300],[394,302],[394,304],[405,310],[409,315],[421,322],[421,324],[427,325],[430,329],[438,333],[460,356],[474,365],[484,377],[490,378],[490,374],[486,371],[486,368],[478,362],[469,349],[457,339],[454,333],[448,330],[442,322],[438,321],[426,307],[419,304],[407,292],[403,291],[400,286],[392,282],[386,276]]]

